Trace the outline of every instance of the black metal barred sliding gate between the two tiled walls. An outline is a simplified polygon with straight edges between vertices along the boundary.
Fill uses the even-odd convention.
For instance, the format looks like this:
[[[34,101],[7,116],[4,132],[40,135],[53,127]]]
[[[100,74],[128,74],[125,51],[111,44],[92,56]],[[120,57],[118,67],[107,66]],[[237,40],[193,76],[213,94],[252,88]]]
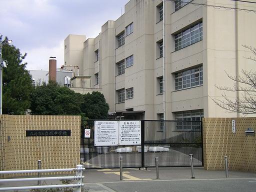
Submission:
[[[90,137],[84,137],[84,129]],[[141,145],[94,146],[94,120],[81,120],[80,157],[85,168],[154,167],[158,156],[161,167],[203,166],[202,122],[175,120],[141,120]]]

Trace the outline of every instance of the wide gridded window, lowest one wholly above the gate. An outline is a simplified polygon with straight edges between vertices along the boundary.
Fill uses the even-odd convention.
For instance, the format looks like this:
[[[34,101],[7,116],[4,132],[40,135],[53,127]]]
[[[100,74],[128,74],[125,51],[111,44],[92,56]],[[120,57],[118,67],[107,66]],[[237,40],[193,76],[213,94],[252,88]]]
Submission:
[[[175,73],[175,90],[199,86],[202,83],[202,65]]]

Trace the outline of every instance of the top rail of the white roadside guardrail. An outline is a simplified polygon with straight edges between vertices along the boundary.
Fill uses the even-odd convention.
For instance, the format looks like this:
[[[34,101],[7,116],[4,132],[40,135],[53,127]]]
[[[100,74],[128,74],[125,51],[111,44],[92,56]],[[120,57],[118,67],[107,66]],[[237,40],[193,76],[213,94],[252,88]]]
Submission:
[[[61,172],[61,171],[76,171],[84,170],[85,168],[52,168],[52,169],[33,169],[33,170],[1,170],[0,174],[15,174],[15,173],[32,173],[32,172]]]

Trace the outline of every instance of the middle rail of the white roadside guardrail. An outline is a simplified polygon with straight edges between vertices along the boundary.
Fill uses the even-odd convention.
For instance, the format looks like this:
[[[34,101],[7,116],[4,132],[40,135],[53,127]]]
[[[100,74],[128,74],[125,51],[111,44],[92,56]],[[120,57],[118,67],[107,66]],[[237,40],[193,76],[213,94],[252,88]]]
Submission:
[[[48,176],[48,177],[34,177],[34,178],[5,178],[0,179],[0,182],[18,182],[18,181],[28,181],[28,180],[60,180],[60,179],[79,179],[84,178],[84,176]]]

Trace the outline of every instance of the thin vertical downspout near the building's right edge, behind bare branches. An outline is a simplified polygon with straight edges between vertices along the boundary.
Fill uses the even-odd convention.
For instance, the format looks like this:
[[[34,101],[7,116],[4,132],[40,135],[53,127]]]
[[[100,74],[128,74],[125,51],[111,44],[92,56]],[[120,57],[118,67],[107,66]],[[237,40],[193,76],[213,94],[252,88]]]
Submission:
[[[235,72],[236,72],[236,77],[239,76],[239,65],[238,65],[238,3],[235,1]],[[236,89],[238,90],[239,88],[239,82],[236,81]],[[236,98],[239,99],[239,91],[236,91]],[[237,105],[238,107],[238,105]],[[238,107],[239,111],[239,107]],[[239,117],[240,114],[237,112],[237,117]]]

